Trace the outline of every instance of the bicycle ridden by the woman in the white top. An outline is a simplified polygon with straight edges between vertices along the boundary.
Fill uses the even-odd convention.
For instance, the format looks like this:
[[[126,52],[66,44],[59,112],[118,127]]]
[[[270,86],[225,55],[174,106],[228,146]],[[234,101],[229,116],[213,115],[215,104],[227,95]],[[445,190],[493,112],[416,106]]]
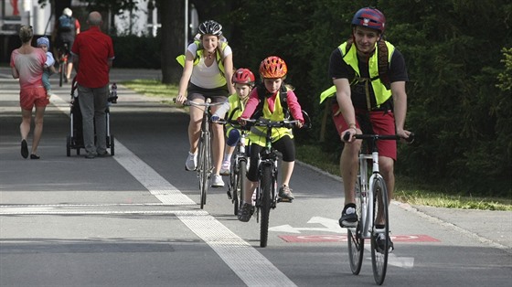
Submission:
[[[176,101],[176,99],[175,99]],[[186,101],[184,105],[195,106],[203,110],[203,119],[201,120],[201,134],[198,143],[197,154],[197,177],[199,178],[199,201],[201,209],[207,204],[208,183],[213,173],[213,160],[211,155],[211,111],[213,106],[221,105],[222,102],[211,102],[208,98],[206,102]]]

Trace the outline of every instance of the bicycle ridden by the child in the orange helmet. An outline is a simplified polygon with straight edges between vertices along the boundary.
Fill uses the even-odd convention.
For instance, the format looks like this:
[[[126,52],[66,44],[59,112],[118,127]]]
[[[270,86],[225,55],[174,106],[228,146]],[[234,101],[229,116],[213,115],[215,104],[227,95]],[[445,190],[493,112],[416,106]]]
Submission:
[[[311,127],[311,121],[306,112],[304,114],[304,128]],[[265,147],[261,150],[258,159],[258,186],[256,187],[256,218],[260,226],[260,247],[266,247],[269,238],[269,218],[271,208],[277,207],[277,203],[284,201],[277,195],[277,175],[279,156],[276,149],[272,147],[272,129],[274,128],[292,128],[298,121],[279,121],[274,122],[267,119],[243,119],[250,122],[251,125],[266,128]],[[292,202],[292,200],[287,200]]]

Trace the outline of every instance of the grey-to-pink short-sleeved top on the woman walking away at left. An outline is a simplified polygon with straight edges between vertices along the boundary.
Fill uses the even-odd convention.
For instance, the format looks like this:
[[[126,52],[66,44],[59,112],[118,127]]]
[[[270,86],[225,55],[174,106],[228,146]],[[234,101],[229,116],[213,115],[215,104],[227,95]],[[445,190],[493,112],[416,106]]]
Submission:
[[[41,48],[34,48],[30,54],[21,54],[16,48],[11,53],[11,67],[19,73],[19,87],[39,88],[43,86],[42,75],[47,55]]]

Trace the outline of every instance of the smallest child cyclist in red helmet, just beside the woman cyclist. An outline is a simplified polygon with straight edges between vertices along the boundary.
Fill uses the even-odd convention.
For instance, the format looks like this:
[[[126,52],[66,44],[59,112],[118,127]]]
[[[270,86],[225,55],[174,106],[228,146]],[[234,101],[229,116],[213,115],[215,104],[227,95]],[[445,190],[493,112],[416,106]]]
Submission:
[[[229,96],[228,100],[219,107],[219,110],[211,116],[212,122],[219,121],[220,117],[223,117],[226,112],[231,119],[236,120],[240,117],[240,114],[245,109],[245,104],[249,99],[249,93],[254,87],[254,74],[251,69],[240,68],[233,74],[232,82],[237,92]],[[226,149],[224,151],[224,160],[220,167],[220,175],[229,175],[229,168],[231,166],[231,156],[235,151],[237,143],[240,141],[240,131],[233,127],[232,124],[226,124]]]

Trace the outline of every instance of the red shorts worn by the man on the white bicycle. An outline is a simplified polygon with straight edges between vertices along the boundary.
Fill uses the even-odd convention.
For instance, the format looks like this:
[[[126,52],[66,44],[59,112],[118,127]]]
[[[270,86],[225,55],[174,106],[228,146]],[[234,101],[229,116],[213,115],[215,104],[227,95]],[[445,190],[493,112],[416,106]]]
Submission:
[[[337,133],[341,136],[341,133],[347,131],[348,124],[345,122],[343,115],[340,113],[336,114],[339,107],[335,102],[333,104],[333,121],[336,125]],[[336,114],[336,115],[335,115]],[[360,124],[357,119],[359,114],[368,114],[368,111],[356,109],[356,125],[360,129]],[[369,112],[369,122],[373,132],[376,134],[396,134],[395,130],[395,116],[393,112],[388,111],[376,111]],[[379,155],[390,157],[393,160],[397,160],[397,142],[396,141],[377,141],[377,147],[379,148]]]

